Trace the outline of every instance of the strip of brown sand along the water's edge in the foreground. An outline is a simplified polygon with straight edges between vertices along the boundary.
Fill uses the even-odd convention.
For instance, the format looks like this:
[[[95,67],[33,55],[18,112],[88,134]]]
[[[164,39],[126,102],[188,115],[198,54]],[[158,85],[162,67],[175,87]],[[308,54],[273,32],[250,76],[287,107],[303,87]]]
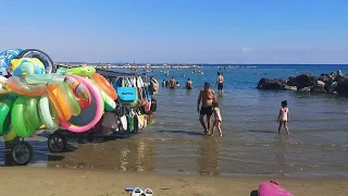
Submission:
[[[264,177],[167,175],[82,169],[0,168],[1,195],[129,195],[127,186],[150,187],[153,195],[248,196]],[[272,179],[294,195],[348,195],[348,179]]]

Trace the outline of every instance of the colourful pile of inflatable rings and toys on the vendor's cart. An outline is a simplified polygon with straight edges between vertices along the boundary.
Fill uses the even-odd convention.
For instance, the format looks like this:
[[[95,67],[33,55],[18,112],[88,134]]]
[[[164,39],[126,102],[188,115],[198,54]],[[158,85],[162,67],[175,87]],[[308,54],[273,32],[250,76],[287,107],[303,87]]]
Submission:
[[[125,98],[127,94],[117,95],[117,88],[127,91],[127,86],[113,86],[92,66],[55,70],[52,60],[40,50],[4,51],[0,53],[0,136],[7,142],[30,137],[37,130],[86,132],[104,112],[124,113],[125,108],[133,106]],[[120,102],[120,98],[124,99]],[[84,118],[86,111],[90,119],[73,123],[73,119]],[[129,121],[129,113],[137,111],[127,112],[117,118],[121,123]]]

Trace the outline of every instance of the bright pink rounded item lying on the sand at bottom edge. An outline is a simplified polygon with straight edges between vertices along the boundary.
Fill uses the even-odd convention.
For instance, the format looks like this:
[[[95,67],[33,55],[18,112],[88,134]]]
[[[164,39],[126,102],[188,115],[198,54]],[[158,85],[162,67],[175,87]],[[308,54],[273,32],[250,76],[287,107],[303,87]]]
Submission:
[[[259,186],[259,196],[294,196],[274,181],[262,182]]]

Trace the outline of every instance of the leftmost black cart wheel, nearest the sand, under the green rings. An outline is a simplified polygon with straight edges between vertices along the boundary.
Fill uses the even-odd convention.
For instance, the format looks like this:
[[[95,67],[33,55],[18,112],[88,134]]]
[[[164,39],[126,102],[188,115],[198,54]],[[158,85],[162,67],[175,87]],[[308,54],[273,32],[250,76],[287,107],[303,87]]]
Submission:
[[[20,142],[12,148],[12,158],[17,166],[26,166],[33,159],[33,147],[26,142]]]

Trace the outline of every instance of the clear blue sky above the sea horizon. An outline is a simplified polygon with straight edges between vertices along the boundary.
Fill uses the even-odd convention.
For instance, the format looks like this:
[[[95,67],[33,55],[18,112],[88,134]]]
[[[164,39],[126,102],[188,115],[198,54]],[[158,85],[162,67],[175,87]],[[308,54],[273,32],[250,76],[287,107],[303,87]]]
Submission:
[[[348,63],[347,0],[0,2],[0,50],[55,62]]]

